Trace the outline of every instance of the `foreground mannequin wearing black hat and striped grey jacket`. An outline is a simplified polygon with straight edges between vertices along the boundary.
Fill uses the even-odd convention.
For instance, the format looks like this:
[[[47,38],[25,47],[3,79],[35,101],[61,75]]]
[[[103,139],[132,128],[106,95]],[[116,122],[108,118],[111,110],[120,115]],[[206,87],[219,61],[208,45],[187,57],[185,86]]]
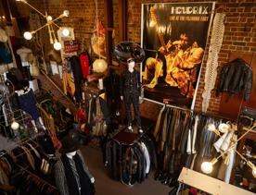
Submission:
[[[54,167],[54,177],[60,195],[93,195],[95,178],[85,165],[79,144],[70,136],[62,142],[61,153]]]

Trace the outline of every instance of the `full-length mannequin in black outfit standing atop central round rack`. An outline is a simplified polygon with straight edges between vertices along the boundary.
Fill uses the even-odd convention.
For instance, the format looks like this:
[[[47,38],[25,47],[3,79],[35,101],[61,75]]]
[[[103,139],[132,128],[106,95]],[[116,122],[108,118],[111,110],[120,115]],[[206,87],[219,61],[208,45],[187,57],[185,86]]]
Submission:
[[[124,101],[126,116],[128,119],[128,129],[133,131],[132,128],[132,112],[131,104],[134,105],[134,118],[139,133],[143,133],[141,128],[140,112],[139,112],[139,97],[140,97],[140,81],[139,73],[134,70],[135,59],[128,58],[128,70],[122,72],[121,79],[121,99]]]

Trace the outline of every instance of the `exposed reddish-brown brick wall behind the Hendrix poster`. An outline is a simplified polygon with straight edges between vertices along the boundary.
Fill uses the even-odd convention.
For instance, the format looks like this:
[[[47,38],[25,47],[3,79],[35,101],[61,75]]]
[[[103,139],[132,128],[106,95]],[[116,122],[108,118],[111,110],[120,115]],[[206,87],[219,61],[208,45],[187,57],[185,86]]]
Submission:
[[[30,0],[33,6],[45,11],[42,1]],[[94,1],[89,0],[45,0],[47,11],[53,17],[63,11],[63,9],[70,10],[70,18],[64,18],[63,24],[73,27],[77,39],[85,39],[87,45],[90,43],[90,37],[94,27],[96,6]],[[99,18],[104,21],[104,2],[97,0],[99,9]],[[140,43],[141,40],[141,4],[142,3],[175,3],[187,2],[187,0],[128,0],[128,40]],[[197,1],[189,1],[197,2]],[[209,2],[201,0],[200,2]],[[219,55],[219,65],[228,62],[231,52],[253,53],[256,52],[256,1],[243,0],[217,0],[216,7],[224,5],[225,8],[219,9],[218,12],[224,12],[226,18],[224,21],[224,43]],[[24,7],[24,6],[23,6]],[[114,7],[114,28],[116,35],[118,35],[118,0],[113,0]],[[26,8],[26,10],[28,10]],[[211,34],[211,33],[210,33]],[[115,41],[116,43],[116,41]],[[206,53],[202,64],[202,72],[198,86],[198,95],[196,101],[196,109],[201,109],[201,94],[204,87],[203,78],[205,76],[205,66],[208,58],[210,38],[207,43]],[[218,68],[220,72],[221,68]],[[218,82],[218,79],[217,79]],[[217,113],[219,110],[220,97],[215,96],[215,91],[212,91],[209,111]]]

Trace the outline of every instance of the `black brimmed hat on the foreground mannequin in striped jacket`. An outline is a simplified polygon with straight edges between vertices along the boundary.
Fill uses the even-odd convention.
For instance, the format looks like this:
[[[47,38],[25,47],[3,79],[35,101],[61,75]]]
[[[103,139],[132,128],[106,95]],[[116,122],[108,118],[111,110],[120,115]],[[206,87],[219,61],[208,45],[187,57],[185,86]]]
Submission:
[[[62,147],[59,149],[60,153],[69,153],[77,151],[80,148],[78,141],[74,140],[70,136],[66,136],[61,140]]]

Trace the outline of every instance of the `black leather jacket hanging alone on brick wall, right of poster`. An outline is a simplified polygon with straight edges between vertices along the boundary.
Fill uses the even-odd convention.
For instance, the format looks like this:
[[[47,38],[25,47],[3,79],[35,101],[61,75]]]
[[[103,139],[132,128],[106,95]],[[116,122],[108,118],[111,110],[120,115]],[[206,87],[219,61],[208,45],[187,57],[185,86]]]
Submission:
[[[244,90],[244,100],[250,99],[252,68],[240,58],[227,63],[221,73],[218,92],[239,93]]]

